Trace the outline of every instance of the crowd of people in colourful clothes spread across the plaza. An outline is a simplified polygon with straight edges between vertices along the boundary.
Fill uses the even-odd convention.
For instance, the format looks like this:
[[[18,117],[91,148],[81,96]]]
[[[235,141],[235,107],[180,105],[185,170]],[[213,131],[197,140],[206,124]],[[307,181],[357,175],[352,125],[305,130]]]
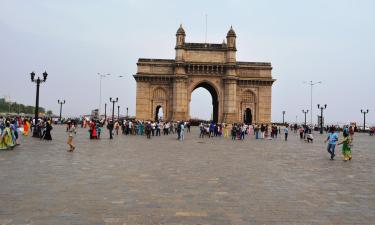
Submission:
[[[185,132],[190,133],[191,124],[186,121],[141,121],[135,119],[122,120],[98,120],[86,119],[67,120],[66,131],[68,133],[67,144],[70,152],[75,150],[73,144],[73,137],[76,134],[76,128],[80,124],[81,128],[88,128],[88,137],[90,139],[100,139],[103,127],[109,131],[109,138],[119,135],[138,135],[145,136],[151,139],[153,136],[161,135],[177,135],[177,140],[183,141],[185,139]],[[53,121],[48,118],[40,118],[37,127],[35,127],[35,120],[32,118],[21,117],[0,117],[0,150],[13,149],[19,145],[19,135],[25,137],[30,134],[36,134],[40,139],[52,140],[51,131],[53,129]],[[35,130],[36,129],[36,130]],[[214,138],[224,137],[232,140],[244,140],[246,136],[254,136],[254,139],[273,140],[281,136],[283,130],[284,140],[288,140],[289,130],[299,134],[299,138],[305,142],[312,143],[314,141],[313,128],[306,125],[288,125],[283,126],[276,124],[255,124],[247,125],[244,123],[214,123],[201,122],[199,124],[199,138]],[[342,145],[342,154],[345,161],[352,159],[351,147],[355,129],[352,126],[342,127],[343,138],[339,141],[339,131],[335,126],[326,127],[328,142],[327,151],[330,154],[330,159],[335,157],[335,147]],[[374,130],[369,132],[374,135]]]

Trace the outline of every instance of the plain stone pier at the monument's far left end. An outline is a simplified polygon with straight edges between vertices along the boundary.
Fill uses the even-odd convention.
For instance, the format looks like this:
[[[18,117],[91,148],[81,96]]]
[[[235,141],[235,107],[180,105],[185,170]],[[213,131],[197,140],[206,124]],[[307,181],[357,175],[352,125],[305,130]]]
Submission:
[[[148,81],[137,81],[136,115],[138,120],[152,118],[150,83]]]

